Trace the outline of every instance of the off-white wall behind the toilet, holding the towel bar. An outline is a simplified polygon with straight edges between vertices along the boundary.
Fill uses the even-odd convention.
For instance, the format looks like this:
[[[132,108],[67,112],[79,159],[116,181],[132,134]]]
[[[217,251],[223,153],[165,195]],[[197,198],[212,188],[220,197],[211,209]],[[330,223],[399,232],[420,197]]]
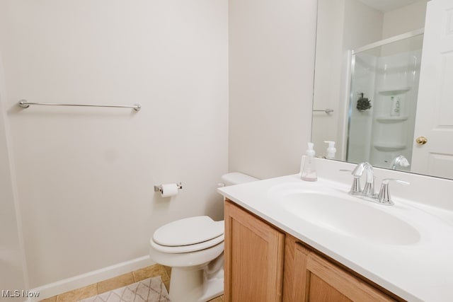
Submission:
[[[0,2],[31,287],[148,255],[167,221],[222,219],[227,13],[226,0]],[[142,110],[24,110],[21,98]],[[176,181],[177,197],[153,191]]]

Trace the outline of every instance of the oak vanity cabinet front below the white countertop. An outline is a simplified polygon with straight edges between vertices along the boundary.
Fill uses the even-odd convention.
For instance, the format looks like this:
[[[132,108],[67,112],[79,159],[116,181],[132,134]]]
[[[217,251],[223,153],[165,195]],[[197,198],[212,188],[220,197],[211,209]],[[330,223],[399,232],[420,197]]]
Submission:
[[[225,202],[225,301],[404,301]]]

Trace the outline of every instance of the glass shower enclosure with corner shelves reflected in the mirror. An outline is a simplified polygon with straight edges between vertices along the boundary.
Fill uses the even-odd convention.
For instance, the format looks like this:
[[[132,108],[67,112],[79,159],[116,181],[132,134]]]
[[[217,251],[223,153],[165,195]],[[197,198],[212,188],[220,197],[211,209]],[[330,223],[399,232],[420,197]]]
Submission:
[[[411,163],[422,45],[417,30],[352,52],[347,161],[410,170],[391,165]]]

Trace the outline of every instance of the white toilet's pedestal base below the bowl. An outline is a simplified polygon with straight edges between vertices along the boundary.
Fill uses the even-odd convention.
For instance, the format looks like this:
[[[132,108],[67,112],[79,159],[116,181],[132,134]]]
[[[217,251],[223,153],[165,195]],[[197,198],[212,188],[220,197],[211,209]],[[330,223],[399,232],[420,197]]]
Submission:
[[[206,302],[224,293],[224,269],[207,276],[205,267],[172,267],[169,296],[172,302]]]

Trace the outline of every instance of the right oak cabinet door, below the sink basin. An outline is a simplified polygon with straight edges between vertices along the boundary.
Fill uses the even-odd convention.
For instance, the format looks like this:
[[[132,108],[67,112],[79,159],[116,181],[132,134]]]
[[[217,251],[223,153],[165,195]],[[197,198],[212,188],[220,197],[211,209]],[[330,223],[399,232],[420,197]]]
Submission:
[[[395,301],[344,269],[295,243],[294,301]]]

